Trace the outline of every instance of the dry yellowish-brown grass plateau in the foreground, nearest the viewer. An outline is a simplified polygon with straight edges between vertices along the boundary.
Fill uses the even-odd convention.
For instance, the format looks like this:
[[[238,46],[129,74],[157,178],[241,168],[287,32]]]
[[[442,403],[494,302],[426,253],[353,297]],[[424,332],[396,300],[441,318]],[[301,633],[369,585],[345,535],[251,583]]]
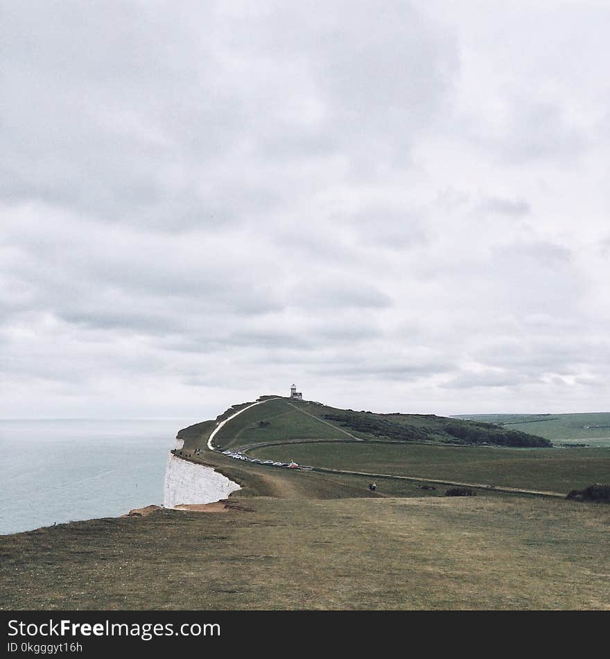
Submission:
[[[239,501],[238,497],[238,501]],[[610,608],[609,506],[243,499],[0,537],[7,609]]]

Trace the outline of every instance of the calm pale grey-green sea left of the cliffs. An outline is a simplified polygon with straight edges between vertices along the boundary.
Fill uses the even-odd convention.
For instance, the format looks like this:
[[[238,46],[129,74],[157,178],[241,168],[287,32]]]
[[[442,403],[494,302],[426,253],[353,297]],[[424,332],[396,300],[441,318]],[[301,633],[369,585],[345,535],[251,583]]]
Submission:
[[[198,421],[0,420],[0,534],[162,504],[177,431]]]

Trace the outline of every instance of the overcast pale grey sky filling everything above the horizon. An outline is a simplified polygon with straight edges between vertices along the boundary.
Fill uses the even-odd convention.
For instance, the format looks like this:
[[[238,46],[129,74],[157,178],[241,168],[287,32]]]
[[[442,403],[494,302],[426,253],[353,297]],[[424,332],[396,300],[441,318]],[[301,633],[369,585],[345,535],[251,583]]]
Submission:
[[[610,409],[607,1],[0,6],[0,416]]]

